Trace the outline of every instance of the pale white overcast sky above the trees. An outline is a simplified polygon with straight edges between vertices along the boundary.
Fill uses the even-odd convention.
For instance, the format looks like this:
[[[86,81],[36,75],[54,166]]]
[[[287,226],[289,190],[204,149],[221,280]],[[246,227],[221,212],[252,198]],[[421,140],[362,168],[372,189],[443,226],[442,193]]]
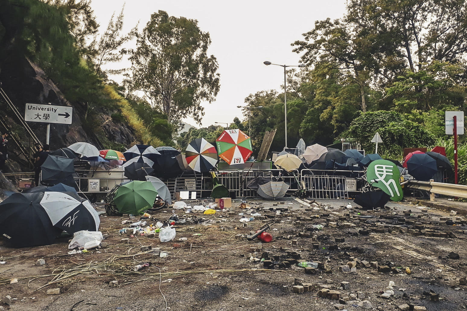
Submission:
[[[138,21],[142,30],[150,15],[158,10],[173,16],[198,20],[198,27],[211,35],[209,55],[219,63],[220,91],[216,101],[205,103],[202,126],[214,122],[232,122],[242,119],[244,99],[260,90],[279,90],[283,84],[283,68],[265,66],[264,61],[297,65],[299,55],[292,52],[290,43],[303,39],[302,34],[313,28],[316,20],[340,18],[345,12],[346,0],[92,0],[92,7],[105,31],[113,12],[120,13],[125,4],[124,31],[128,32]],[[126,48],[134,47],[134,42]],[[122,61],[117,66],[130,67]],[[120,82],[118,76],[112,77]],[[191,118],[185,122],[197,126]]]

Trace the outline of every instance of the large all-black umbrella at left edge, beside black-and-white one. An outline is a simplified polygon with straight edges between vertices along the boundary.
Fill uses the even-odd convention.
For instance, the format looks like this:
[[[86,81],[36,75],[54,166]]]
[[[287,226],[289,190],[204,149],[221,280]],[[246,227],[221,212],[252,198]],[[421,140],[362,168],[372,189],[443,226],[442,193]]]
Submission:
[[[43,195],[14,193],[0,203],[0,235],[14,247],[49,245],[62,231],[42,208]]]

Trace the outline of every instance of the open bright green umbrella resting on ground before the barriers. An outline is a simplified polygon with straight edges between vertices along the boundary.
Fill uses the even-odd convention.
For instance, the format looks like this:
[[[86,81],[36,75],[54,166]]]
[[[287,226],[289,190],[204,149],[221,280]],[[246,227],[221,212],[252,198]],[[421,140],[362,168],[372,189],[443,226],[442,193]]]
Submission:
[[[149,181],[130,181],[121,185],[113,202],[122,214],[143,214],[154,205],[156,200],[156,188]]]

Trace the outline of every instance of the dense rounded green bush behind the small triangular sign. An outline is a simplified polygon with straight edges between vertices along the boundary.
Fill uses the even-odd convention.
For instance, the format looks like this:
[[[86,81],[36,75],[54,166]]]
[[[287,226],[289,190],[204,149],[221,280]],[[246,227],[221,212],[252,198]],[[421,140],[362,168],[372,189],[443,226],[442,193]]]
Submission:
[[[373,153],[375,144],[370,141],[376,132],[379,132],[383,141],[378,145],[378,152],[385,152],[394,159],[402,158],[403,148],[430,145],[435,139],[422,125],[407,120],[396,111],[362,113],[341,137],[356,138],[367,153]]]

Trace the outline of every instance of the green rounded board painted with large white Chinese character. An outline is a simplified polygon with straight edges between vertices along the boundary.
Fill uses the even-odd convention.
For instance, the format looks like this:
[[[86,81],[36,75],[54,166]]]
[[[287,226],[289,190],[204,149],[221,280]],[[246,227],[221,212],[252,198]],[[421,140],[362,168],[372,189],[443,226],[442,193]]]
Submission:
[[[370,163],[367,170],[367,181],[373,187],[382,189],[391,196],[391,200],[402,200],[401,173],[397,166],[388,160],[376,160]]]

